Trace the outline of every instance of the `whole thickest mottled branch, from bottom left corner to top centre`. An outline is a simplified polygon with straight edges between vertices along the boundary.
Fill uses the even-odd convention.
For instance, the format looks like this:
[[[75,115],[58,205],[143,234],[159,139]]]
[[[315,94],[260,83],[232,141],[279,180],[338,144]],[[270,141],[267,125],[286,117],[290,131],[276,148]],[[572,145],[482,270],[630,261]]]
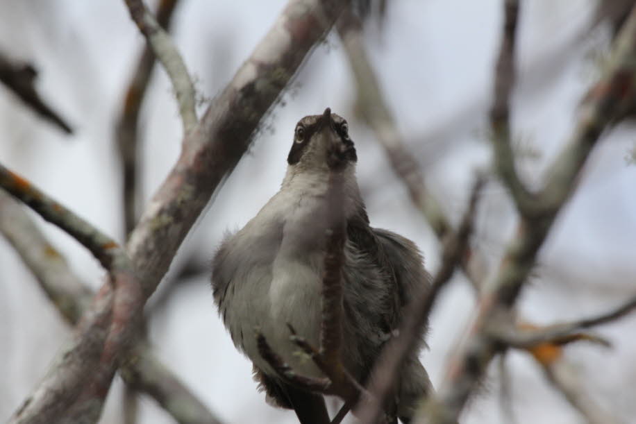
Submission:
[[[156,289],[212,193],[246,151],[262,117],[276,103],[312,46],[322,39],[348,5],[348,1],[336,0],[290,1],[231,83],[187,133],[180,158],[128,241],[127,251],[141,282],[142,294],[128,303],[131,308],[128,310],[132,312],[128,319],[118,319],[115,312],[112,314],[112,324],[118,330],[126,330],[124,335],[131,334],[135,328],[142,305]],[[78,367],[80,371],[85,371],[85,366],[92,362],[85,359],[94,351],[101,352],[85,350],[89,339],[96,345],[116,347],[102,343],[105,332],[100,327],[110,322],[112,297],[112,287],[104,285],[81,325],[81,329],[94,327],[95,331],[80,332],[75,343],[63,353],[65,362],[56,368],[72,366],[75,360],[82,364]],[[117,302],[113,305],[117,306]],[[99,362],[99,371],[103,373],[83,373],[84,378],[97,375],[83,396],[78,397],[72,384],[58,386],[57,382],[62,379],[56,379],[52,371],[12,422],[37,422],[38,419],[55,422],[62,415],[72,419],[97,419],[119,364],[119,358],[113,357],[117,350],[107,353]]]

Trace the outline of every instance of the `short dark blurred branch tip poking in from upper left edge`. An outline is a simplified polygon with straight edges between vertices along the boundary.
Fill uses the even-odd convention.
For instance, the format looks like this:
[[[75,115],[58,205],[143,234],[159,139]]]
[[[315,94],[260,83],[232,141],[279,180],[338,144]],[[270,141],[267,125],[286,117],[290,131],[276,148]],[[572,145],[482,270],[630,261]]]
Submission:
[[[40,116],[49,119],[67,134],[73,130],[51,106],[42,100],[35,90],[37,71],[28,63],[13,63],[0,53],[0,82],[15,93],[26,105],[35,110]]]

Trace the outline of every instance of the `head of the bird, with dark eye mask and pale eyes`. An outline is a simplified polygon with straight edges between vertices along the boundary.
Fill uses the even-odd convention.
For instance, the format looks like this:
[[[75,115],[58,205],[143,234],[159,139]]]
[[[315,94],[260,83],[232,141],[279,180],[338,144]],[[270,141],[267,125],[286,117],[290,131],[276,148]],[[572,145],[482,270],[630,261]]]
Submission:
[[[326,108],[322,115],[308,115],[298,121],[294,144],[287,163],[306,170],[340,170],[355,164],[353,141],[344,118]]]

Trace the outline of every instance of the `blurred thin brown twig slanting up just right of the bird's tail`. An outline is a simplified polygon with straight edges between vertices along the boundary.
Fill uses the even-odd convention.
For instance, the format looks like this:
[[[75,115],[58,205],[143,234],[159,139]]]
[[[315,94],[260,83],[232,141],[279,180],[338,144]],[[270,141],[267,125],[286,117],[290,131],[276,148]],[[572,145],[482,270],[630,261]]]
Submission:
[[[435,278],[433,278],[433,284],[430,289],[422,291],[408,305],[404,313],[404,322],[400,325],[398,337],[392,339],[388,346],[383,349],[373,371],[371,371],[369,392],[371,392],[371,396],[376,398],[376,402],[362,405],[363,407],[360,411],[360,421],[362,423],[376,423],[378,418],[380,418],[383,413],[382,407],[385,405],[385,400],[391,393],[396,378],[400,374],[399,371],[403,362],[417,346],[419,334],[421,334],[428,315],[433,309],[437,295],[453,275],[455,267],[460,263],[462,256],[465,255],[469,236],[473,228],[480,188],[483,183],[484,180],[478,177],[458,232],[446,239],[444,251],[442,252],[442,265],[435,274]]]

